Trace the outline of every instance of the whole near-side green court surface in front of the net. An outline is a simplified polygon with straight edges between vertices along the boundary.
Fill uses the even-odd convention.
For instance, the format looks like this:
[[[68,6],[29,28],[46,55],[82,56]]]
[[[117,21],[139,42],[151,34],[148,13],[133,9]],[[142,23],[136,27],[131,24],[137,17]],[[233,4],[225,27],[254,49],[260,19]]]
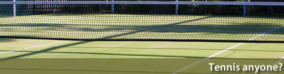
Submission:
[[[61,41],[64,40],[6,38],[0,40],[0,53]],[[238,43],[168,41],[68,41],[64,43],[0,54],[0,58],[45,58],[15,60],[0,59],[0,71],[5,74],[29,74],[30,71],[36,74],[171,74],[236,44]],[[283,46],[283,43],[244,43],[231,50],[212,57],[218,59],[208,59],[180,73],[239,74],[239,72],[208,71],[208,63],[218,63],[222,65],[231,65],[232,63],[239,65],[270,65],[276,63],[276,61],[278,61],[279,59],[261,59],[283,57]],[[252,72],[240,73],[254,74]]]

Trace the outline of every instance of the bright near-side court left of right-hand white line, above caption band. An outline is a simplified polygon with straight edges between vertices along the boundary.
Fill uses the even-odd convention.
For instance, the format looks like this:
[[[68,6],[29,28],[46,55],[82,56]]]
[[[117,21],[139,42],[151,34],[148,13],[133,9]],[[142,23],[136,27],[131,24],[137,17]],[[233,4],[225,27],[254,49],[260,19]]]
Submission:
[[[54,42],[58,40],[17,39],[1,44],[4,52]],[[15,44],[18,47],[10,46]],[[70,41],[7,53],[0,58],[203,58],[237,43],[224,44],[227,46],[216,46],[214,42]],[[25,54],[31,55],[21,56]]]

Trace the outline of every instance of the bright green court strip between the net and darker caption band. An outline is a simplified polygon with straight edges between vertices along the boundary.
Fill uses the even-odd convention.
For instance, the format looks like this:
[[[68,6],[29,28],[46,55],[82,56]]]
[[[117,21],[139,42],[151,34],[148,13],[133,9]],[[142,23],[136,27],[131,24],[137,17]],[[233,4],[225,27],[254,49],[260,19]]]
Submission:
[[[62,41],[64,40],[1,40],[0,52]],[[236,44],[238,43],[69,41],[0,54],[0,58],[206,58]],[[284,56],[283,48],[282,43],[244,43],[216,58],[281,58]]]

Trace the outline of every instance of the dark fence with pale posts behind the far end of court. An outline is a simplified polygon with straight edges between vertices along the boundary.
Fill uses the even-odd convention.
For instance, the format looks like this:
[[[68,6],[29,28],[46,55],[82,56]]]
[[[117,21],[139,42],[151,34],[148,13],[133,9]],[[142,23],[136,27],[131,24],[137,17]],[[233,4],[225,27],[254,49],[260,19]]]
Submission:
[[[11,1],[11,0],[1,0]],[[17,1],[67,1],[67,0],[17,0]],[[68,0],[79,1],[79,0]],[[90,0],[83,0],[90,1]],[[96,0],[105,1],[105,0]],[[114,1],[114,0],[107,0]],[[121,0],[116,0],[121,1]],[[167,0],[173,1],[173,0]],[[178,0],[174,0],[178,1]],[[211,1],[211,0],[208,0]],[[213,0],[213,1],[231,1],[231,0]],[[243,1],[268,1],[268,0],[243,0]],[[282,1],[282,0],[271,0]],[[144,6],[147,9],[133,9]],[[0,13],[5,16],[24,16],[24,15],[36,15],[47,13],[140,13],[140,14],[180,14],[180,15],[230,15],[236,16],[284,16],[284,6],[250,6],[250,5],[129,5],[129,4],[17,4],[0,6],[0,10],[5,12]],[[132,7],[132,9],[130,9]],[[182,7],[185,10],[179,10],[178,7]],[[229,8],[230,7],[230,8]],[[228,12],[227,9],[230,9]],[[200,10],[206,10],[201,12]],[[257,13],[260,10],[266,10],[263,13]],[[181,12],[183,11],[183,12]],[[184,12],[186,11],[186,12]],[[12,15],[10,15],[12,13]]]

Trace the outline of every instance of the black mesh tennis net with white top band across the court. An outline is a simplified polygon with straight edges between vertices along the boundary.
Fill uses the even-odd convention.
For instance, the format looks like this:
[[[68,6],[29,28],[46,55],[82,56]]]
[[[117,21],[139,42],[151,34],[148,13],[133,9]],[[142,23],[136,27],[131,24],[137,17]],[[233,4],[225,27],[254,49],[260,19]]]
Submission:
[[[2,1],[0,37],[284,42],[284,2]]]

